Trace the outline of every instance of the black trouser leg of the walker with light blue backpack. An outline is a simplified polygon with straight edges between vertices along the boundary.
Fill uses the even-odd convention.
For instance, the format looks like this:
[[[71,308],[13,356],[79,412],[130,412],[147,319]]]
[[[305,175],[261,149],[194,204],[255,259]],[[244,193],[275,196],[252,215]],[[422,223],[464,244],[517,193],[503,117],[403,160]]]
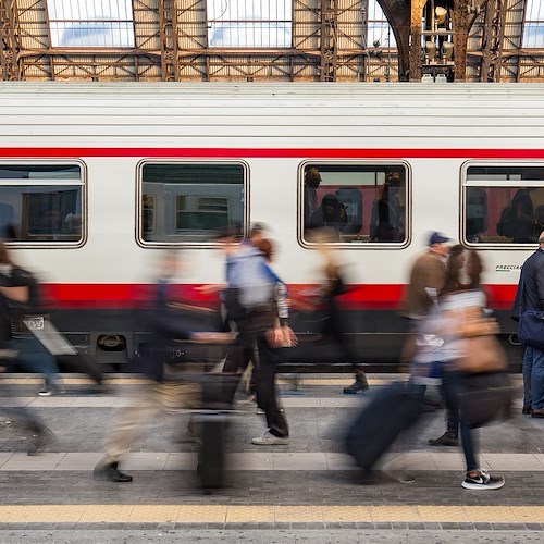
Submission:
[[[257,348],[259,351],[259,364],[255,371],[257,406],[264,411],[271,434],[281,437],[288,436],[287,420],[280,411],[276,400],[275,373],[280,357],[274,349],[270,348],[264,335],[257,337]]]

